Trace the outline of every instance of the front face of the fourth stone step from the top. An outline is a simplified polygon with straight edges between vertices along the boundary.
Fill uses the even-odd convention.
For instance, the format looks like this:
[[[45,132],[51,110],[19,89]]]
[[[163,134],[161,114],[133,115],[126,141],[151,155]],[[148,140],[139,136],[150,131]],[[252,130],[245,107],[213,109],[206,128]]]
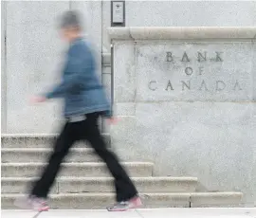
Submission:
[[[2,181],[2,193],[22,193],[26,192],[28,181]],[[28,184],[30,184],[29,181]],[[195,191],[196,182],[182,181],[173,182],[169,180],[164,181],[137,181],[134,179],[139,192],[193,192]],[[81,192],[113,192],[112,179],[95,179],[82,181],[65,181],[57,180],[52,189],[52,193],[81,193]]]

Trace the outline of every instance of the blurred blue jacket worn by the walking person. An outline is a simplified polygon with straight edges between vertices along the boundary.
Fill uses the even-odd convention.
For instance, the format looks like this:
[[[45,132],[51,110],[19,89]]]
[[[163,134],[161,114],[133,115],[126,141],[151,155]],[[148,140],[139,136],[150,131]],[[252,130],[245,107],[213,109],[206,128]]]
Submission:
[[[47,93],[46,98],[64,99],[65,118],[94,112],[102,112],[107,118],[112,117],[110,103],[96,74],[93,53],[82,38],[70,45],[64,64],[63,81]]]

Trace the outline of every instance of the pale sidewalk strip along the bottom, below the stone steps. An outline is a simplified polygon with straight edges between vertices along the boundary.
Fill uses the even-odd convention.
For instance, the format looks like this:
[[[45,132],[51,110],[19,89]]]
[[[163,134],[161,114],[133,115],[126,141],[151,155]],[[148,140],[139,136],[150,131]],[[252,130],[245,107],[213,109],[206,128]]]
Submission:
[[[31,210],[2,209],[1,218],[256,218],[250,209],[136,209],[125,212],[106,210]]]

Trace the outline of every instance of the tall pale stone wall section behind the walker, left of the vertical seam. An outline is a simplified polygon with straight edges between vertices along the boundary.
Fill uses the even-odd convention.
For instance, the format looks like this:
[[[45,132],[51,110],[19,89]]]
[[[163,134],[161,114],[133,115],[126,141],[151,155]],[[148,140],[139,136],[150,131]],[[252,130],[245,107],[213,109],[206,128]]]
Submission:
[[[62,101],[30,105],[28,100],[60,81],[66,44],[59,37],[57,24],[58,17],[68,9],[78,9],[82,13],[84,35],[95,47],[101,79],[101,1],[4,2],[2,133],[49,134],[59,131]]]

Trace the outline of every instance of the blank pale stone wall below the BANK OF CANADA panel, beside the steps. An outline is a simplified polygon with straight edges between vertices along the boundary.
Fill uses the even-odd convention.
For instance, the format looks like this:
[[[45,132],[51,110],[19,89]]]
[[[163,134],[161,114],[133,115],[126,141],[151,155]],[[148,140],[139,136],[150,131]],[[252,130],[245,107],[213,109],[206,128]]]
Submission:
[[[153,161],[157,175],[197,176],[202,191],[243,191],[251,202],[254,116],[253,103],[137,103],[136,117],[113,126],[113,147]]]

